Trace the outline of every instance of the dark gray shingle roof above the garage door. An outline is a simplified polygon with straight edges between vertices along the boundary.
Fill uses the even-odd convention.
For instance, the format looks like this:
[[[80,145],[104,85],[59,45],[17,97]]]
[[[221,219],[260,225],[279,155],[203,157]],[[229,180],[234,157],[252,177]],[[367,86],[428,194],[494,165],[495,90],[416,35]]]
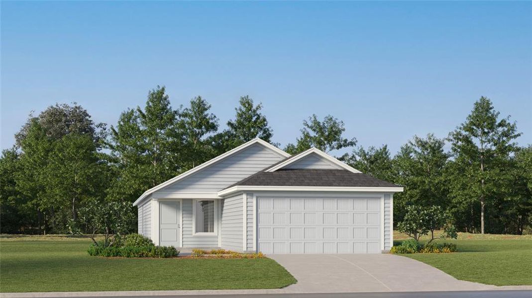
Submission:
[[[362,173],[345,169],[280,169],[259,172],[232,186],[346,186],[346,187],[398,187],[399,185]]]

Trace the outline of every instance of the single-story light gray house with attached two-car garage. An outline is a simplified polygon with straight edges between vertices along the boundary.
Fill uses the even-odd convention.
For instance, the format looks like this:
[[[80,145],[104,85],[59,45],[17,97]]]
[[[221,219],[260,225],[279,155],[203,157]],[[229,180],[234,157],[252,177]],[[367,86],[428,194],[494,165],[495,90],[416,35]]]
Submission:
[[[277,253],[380,253],[403,188],[312,148],[254,139],[143,193],[138,232],[158,245]]]

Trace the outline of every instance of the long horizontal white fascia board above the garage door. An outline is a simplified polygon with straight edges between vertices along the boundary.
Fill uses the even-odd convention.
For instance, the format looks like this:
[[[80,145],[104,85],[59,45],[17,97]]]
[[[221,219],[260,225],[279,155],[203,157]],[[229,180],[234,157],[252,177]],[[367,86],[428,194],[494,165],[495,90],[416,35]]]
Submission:
[[[337,187],[337,186],[250,186],[237,185],[218,192],[220,197],[225,197],[238,191],[358,191],[358,192],[402,192],[402,187]]]

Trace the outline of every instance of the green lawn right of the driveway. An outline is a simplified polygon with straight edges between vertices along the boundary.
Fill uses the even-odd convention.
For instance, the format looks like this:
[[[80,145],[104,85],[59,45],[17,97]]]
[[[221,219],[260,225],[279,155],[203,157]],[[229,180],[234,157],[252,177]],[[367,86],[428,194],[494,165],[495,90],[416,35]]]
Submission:
[[[394,233],[394,240],[408,237]],[[438,240],[438,242],[443,242]],[[455,253],[403,254],[461,280],[496,286],[532,285],[532,235],[459,233]]]

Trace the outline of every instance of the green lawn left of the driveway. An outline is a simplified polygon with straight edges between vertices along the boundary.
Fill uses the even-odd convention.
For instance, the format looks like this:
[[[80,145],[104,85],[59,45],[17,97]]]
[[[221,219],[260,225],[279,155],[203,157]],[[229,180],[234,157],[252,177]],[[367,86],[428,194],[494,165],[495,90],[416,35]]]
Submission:
[[[49,237],[0,238],[0,292],[228,290],[281,288],[296,282],[268,258],[90,257],[86,239]]]

